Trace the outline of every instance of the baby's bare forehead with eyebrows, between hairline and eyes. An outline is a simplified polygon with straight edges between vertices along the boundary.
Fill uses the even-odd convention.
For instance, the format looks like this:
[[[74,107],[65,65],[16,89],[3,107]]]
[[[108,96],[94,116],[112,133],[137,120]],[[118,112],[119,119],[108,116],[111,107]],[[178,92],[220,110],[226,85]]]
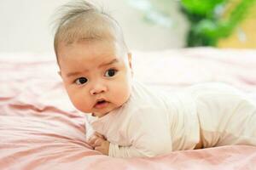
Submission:
[[[110,44],[111,45],[111,44]],[[98,72],[105,71],[109,67],[124,67],[126,65],[126,59],[124,55],[116,53],[115,50],[104,50],[104,48],[96,49],[97,53],[91,52],[90,49],[83,52],[79,52],[80,48],[83,48],[83,43],[73,44],[73,52],[64,49],[63,52],[67,54],[61,54],[60,57],[60,70],[65,75],[65,77],[73,77],[73,75],[78,75],[74,73],[78,72]],[[109,48],[109,47],[106,47]],[[88,52],[89,51],[89,52]],[[78,53],[77,53],[78,52]],[[71,76],[70,76],[71,75]]]

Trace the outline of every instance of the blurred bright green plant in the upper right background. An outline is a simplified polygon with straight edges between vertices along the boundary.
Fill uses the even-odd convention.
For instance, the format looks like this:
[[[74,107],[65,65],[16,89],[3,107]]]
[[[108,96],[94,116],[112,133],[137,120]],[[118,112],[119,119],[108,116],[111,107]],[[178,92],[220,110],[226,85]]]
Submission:
[[[236,5],[224,17],[225,7],[230,3]],[[182,0],[182,11],[190,22],[187,46],[216,46],[246,17],[252,3],[254,0]]]

